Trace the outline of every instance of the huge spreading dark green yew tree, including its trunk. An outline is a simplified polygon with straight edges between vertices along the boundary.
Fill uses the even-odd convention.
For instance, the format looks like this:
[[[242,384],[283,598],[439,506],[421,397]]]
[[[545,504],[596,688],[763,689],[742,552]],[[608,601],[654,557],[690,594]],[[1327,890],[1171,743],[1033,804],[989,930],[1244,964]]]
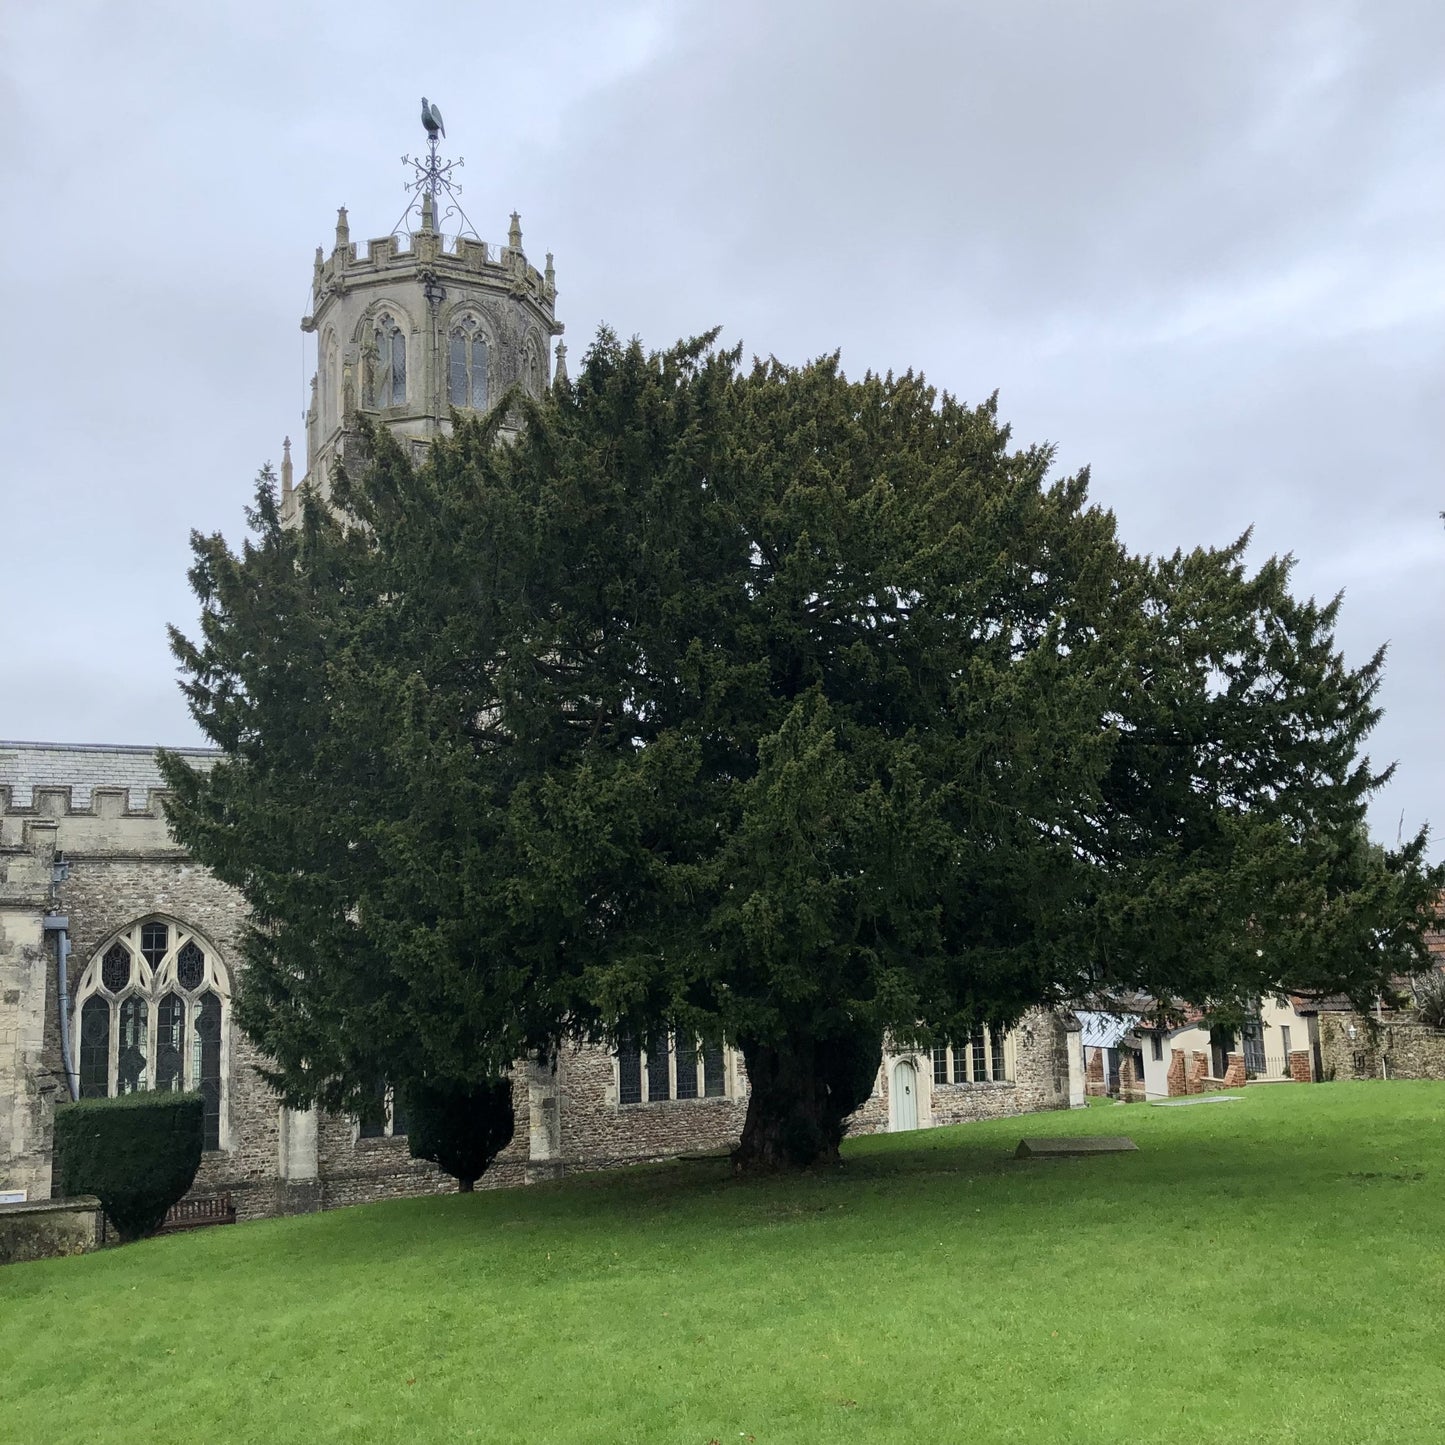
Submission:
[[[1130,553],[993,402],[603,334],[519,439],[384,434],[197,538],[178,838],[251,907],[292,1101],[566,1036],[728,1042],[738,1160],[835,1156],[886,1030],[1101,988],[1368,998],[1439,870],[1371,847],[1381,657],[1246,539]],[[513,413],[514,415],[514,413]]]

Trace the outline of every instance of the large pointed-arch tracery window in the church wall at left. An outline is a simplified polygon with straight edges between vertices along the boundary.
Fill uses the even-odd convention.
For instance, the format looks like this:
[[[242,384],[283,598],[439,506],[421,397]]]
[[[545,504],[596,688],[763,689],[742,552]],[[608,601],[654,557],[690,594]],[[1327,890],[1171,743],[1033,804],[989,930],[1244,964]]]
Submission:
[[[95,952],[75,990],[81,1098],[199,1090],[202,1144],[220,1149],[230,998],[215,949],[184,923],[131,923]]]

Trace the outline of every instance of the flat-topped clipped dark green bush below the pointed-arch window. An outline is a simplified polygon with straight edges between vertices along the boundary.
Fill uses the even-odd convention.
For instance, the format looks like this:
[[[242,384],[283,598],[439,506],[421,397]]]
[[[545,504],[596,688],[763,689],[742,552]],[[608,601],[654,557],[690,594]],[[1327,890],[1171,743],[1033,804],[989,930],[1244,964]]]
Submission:
[[[155,1234],[201,1168],[199,1094],[85,1098],[55,1111],[64,1196],[94,1194],[123,1240]]]

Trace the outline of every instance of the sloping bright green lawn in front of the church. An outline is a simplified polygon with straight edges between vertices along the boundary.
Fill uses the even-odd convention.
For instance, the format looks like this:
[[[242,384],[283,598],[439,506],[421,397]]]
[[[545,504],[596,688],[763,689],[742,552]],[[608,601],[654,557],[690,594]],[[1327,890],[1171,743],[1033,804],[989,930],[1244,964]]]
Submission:
[[[1442,1126],[1445,1084],[1286,1085],[10,1266],[0,1438],[1445,1439]]]

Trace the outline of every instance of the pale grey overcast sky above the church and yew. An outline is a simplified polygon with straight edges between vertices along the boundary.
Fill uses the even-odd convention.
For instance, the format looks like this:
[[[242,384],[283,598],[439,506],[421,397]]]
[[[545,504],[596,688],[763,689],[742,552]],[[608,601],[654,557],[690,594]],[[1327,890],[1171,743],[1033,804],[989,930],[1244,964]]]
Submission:
[[[574,361],[721,324],[997,389],[1133,548],[1344,590],[1374,831],[1445,853],[1441,0],[13,0],[0,81],[0,737],[199,740],[188,532],[299,439],[314,247],[397,221],[425,92]]]

